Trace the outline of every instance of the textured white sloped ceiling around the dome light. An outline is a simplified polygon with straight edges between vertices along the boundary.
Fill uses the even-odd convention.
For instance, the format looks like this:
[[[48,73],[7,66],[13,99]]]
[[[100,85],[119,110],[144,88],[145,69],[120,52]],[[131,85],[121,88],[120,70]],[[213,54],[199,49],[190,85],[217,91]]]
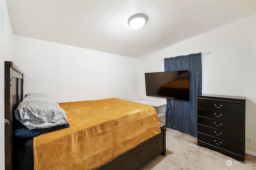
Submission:
[[[255,14],[256,1],[6,0],[13,34],[143,58]],[[144,13],[139,30],[130,16]]]

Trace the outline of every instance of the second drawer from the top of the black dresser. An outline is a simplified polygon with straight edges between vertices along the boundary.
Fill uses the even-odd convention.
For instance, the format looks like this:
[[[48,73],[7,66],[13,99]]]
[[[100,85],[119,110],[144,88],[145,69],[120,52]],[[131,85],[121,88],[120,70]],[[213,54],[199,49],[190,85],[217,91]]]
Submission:
[[[244,125],[244,115],[198,108],[197,115]]]

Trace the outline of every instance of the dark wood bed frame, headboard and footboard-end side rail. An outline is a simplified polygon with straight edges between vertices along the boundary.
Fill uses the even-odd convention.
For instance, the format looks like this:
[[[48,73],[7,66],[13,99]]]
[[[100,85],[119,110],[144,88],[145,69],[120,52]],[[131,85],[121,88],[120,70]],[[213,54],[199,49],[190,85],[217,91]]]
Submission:
[[[24,73],[11,61],[5,61],[4,81],[4,116],[10,124],[5,126],[5,169],[14,167],[13,153],[19,143],[19,138],[13,135],[13,129],[17,125],[14,110],[23,99],[23,75]],[[161,127],[161,133],[138,144],[134,148],[113,158],[99,166],[98,170],[136,170],[150,161],[158,154],[166,154],[166,128]]]

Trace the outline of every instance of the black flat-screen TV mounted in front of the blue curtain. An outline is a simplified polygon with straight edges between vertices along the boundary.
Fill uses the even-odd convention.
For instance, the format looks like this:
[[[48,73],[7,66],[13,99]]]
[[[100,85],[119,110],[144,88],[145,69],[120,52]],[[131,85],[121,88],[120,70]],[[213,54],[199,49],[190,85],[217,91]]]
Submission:
[[[145,73],[146,95],[190,101],[189,71]]]

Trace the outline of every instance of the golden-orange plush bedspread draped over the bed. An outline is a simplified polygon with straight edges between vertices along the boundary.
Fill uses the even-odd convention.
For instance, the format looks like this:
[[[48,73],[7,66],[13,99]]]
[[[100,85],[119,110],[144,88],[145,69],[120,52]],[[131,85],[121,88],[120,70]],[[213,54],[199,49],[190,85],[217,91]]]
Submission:
[[[93,169],[160,133],[152,106],[122,99],[60,103],[70,128],[34,137],[34,169]]]

